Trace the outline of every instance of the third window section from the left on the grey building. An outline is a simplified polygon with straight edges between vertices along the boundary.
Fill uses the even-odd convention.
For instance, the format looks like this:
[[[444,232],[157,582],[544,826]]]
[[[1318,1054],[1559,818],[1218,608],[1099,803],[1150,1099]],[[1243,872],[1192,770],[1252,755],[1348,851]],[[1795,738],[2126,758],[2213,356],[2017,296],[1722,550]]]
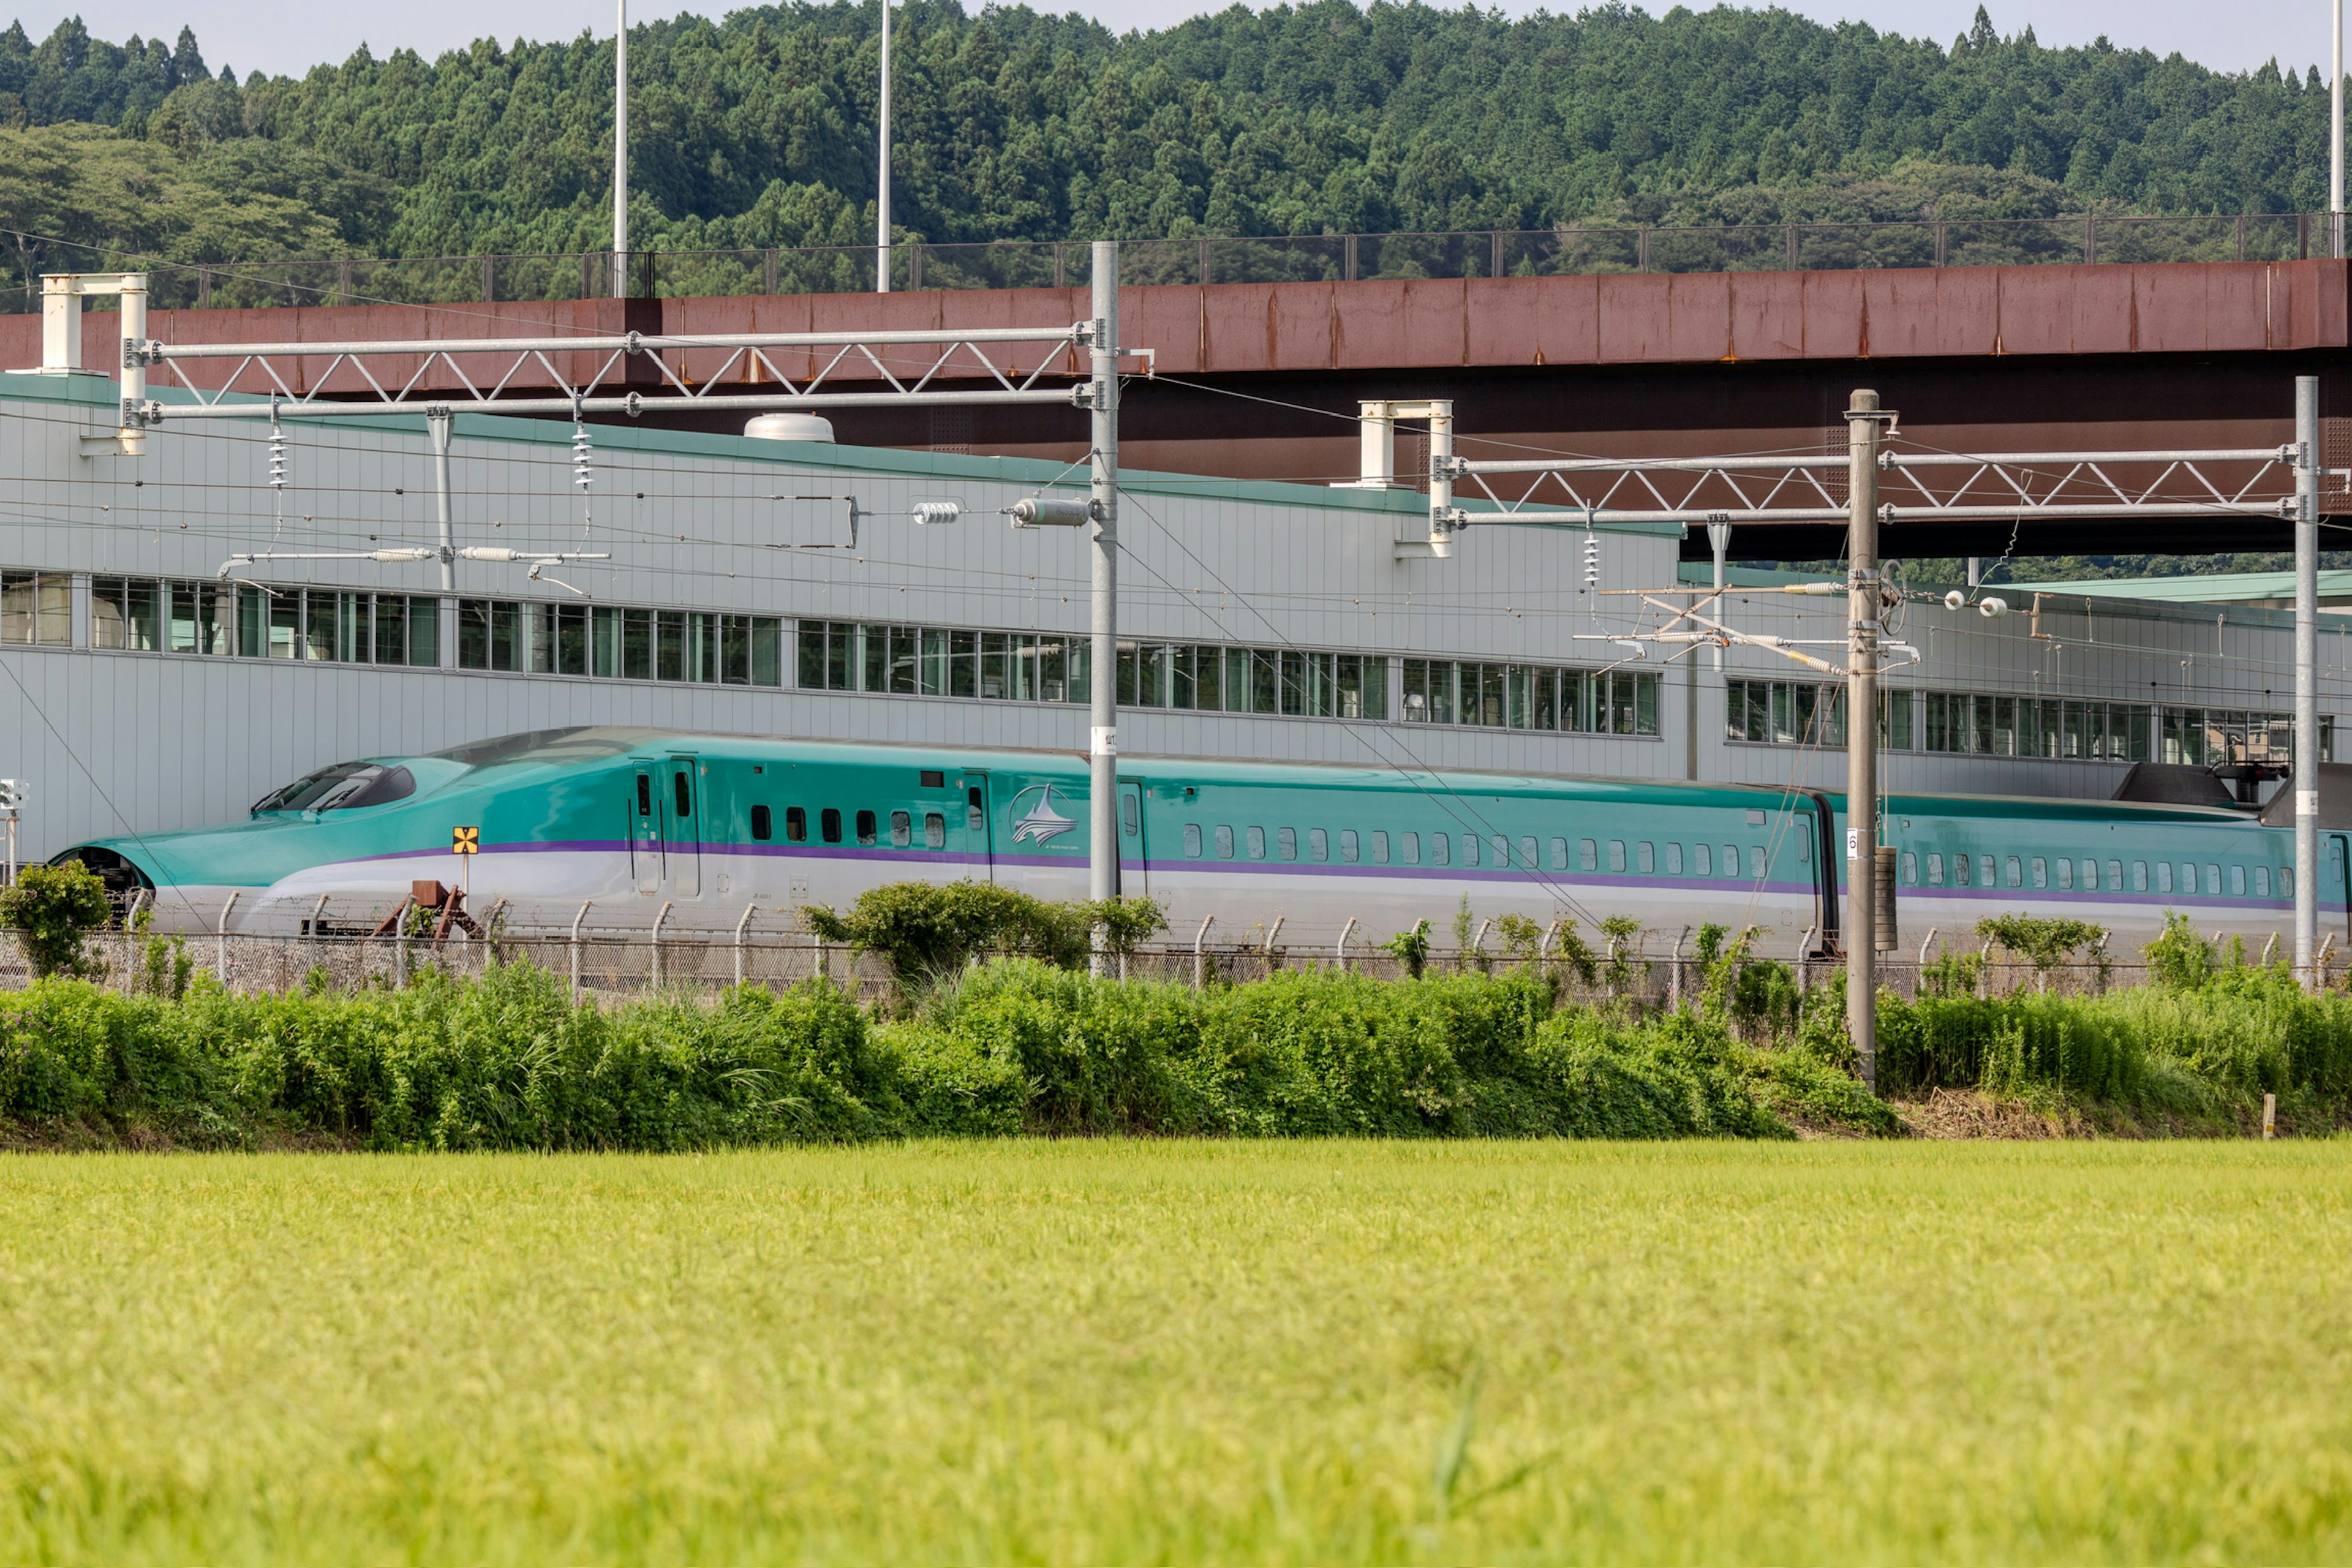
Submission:
[[[699,609],[459,599],[456,668],[781,686],[783,621]]]

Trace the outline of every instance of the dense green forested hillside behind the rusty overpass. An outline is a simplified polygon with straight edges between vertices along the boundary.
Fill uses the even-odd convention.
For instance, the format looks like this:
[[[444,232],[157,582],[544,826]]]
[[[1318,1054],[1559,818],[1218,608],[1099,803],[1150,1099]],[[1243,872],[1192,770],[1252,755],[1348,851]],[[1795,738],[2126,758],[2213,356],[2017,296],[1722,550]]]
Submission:
[[[858,242],[877,7],[630,33],[640,244]],[[2317,71],[2044,49],[1985,12],[1938,45],[1780,9],[1573,16],[1348,0],[1112,35],[906,0],[894,216],[934,242],[2324,202]],[[607,242],[612,40],[365,49],[214,71],[195,35],[0,33],[0,235],[167,261],[567,252]],[[87,266],[87,254],[80,256]]]

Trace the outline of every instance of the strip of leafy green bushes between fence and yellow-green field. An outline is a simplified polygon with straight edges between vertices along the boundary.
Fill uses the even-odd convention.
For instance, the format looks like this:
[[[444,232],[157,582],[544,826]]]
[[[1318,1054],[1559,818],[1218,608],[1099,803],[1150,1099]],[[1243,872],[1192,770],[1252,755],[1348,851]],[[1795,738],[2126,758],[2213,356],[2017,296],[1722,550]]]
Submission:
[[[1722,926],[1698,933],[1677,999],[1581,1001],[1571,957],[1409,980],[1096,978],[1075,969],[1084,912],[1049,907],[1028,952],[981,959],[1009,940],[990,907],[1037,919],[917,896],[837,917],[889,969],[873,1006],[823,976],[574,999],[567,976],[499,959],[473,978],[423,964],[405,985],[339,987],[313,971],[235,994],[165,945],[129,987],[49,973],[0,1004],[0,1117],[52,1143],[445,1150],[1905,1126],[1851,1074],[1837,980],[1806,992]],[[1882,999],[1882,1081],[1898,1098],[1985,1088],[2183,1131],[2241,1131],[2265,1093],[2288,1131],[2345,1119],[2352,999],[2234,966],[2178,922],[2150,971],[2096,997],[1980,997],[1955,961],[1917,999]]]

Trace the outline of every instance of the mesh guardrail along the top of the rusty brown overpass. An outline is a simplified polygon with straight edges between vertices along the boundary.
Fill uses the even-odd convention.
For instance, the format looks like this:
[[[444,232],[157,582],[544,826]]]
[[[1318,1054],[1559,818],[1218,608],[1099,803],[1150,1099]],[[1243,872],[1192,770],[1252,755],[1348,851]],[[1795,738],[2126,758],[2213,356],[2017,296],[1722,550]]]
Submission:
[[[1715,228],[1562,223],[1541,230],[1200,235],[1124,240],[1120,282],[1359,282],[1399,277],[1604,277],[1628,273],[1842,273],[1943,266],[2300,261],[2333,254],[2328,214],[1922,219]],[[129,266],[134,259],[115,259]],[[94,263],[96,266],[96,263]],[[139,261],[151,308],[576,301],[614,294],[612,252],[346,256],[174,266]],[[1080,289],[1084,240],[891,247],[891,287]],[[875,249],[630,252],[642,299],[868,294]],[[40,308],[40,280],[0,266],[0,313]]]

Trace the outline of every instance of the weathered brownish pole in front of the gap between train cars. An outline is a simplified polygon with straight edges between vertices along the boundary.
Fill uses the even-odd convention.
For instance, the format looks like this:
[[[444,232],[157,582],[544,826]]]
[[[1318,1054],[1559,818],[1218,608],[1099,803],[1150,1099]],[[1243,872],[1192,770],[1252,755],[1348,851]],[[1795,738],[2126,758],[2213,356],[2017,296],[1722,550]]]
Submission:
[[[1846,1034],[1879,1086],[1879,395],[1846,409]]]

